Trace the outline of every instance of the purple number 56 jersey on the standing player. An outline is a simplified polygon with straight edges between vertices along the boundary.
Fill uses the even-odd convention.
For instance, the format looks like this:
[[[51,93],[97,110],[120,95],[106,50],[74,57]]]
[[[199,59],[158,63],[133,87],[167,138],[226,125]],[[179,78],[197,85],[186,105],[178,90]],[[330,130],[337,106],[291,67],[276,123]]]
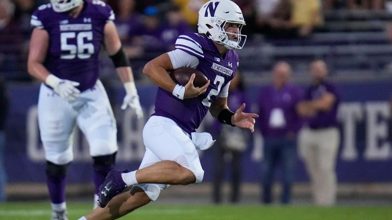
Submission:
[[[51,4],[38,7],[31,17],[33,27],[44,29],[50,37],[43,65],[61,79],[80,83],[84,91],[99,77],[99,53],[106,22],[114,20],[109,5],[102,1],[84,1],[77,18],[58,13]]]

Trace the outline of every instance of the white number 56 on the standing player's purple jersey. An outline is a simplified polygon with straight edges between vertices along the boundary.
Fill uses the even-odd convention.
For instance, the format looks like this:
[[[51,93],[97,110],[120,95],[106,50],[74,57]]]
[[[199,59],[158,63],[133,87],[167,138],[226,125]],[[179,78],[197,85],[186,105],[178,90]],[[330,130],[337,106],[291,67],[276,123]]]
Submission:
[[[68,44],[68,39],[76,38],[76,44]],[[61,59],[71,60],[78,56],[79,59],[88,59],[94,53],[94,44],[86,43],[85,39],[92,40],[92,32],[84,31],[79,32],[63,32],[60,35],[61,40],[61,51],[69,52],[68,54],[62,54]]]

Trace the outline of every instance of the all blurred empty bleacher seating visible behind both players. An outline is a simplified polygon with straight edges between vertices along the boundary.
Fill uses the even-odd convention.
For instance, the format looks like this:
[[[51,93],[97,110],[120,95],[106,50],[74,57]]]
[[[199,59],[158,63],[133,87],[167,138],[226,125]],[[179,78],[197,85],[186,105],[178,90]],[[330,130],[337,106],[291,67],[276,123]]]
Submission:
[[[325,59],[332,76],[390,76],[392,43],[385,26],[392,14],[368,10],[334,10],[325,12],[325,25],[308,38],[269,39],[261,35],[249,38],[239,50],[240,67],[250,83],[260,83],[272,65],[285,60],[292,65],[293,77],[306,76],[310,61]],[[30,80],[26,72],[27,43],[15,42],[15,35],[0,38],[0,71],[8,80]],[[131,59],[136,79],[143,79],[141,70],[159,52],[148,52]],[[101,63],[103,76],[112,74],[110,60]],[[259,81],[259,80],[260,81]]]

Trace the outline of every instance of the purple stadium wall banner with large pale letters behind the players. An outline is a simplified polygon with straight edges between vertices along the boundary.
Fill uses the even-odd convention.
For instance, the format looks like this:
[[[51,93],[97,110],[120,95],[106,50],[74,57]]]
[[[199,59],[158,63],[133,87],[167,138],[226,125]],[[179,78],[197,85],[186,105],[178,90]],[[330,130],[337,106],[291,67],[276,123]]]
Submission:
[[[338,109],[341,143],[336,170],[339,182],[390,182],[392,181],[392,139],[389,97],[392,93],[390,82],[340,83],[341,103]],[[144,154],[142,129],[145,121],[154,111],[156,86],[137,86],[144,118],[137,119],[133,110],[122,111],[121,86],[106,86],[114,115],[117,120],[119,168],[137,169]],[[250,86],[247,94],[252,109],[262,86]],[[44,182],[45,159],[39,138],[37,101],[39,85],[10,84],[10,111],[6,126],[5,165],[9,182]],[[198,131],[208,131],[214,119],[207,115]],[[92,177],[92,160],[88,143],[79,129],[74,130],[74,161],[68,168],[68,181],[88,182]],[[254,146],[262,145],[262,137],[255,132],[243,155],[243,180],[261,180],[261,160],[254,160]],[[164,144],[162,144],[164,148]],[[204,181],[214,176],[214,148],[200,152],[205,170]],[[230,164],[227,165],[229,177]],[[23,170],[23,175],[20,171]],[[298,159],[296,181],[308,181],[301,158]],[[227,178],[228,178],[227,177]],[[279,172],[277,178],[280,178]]]

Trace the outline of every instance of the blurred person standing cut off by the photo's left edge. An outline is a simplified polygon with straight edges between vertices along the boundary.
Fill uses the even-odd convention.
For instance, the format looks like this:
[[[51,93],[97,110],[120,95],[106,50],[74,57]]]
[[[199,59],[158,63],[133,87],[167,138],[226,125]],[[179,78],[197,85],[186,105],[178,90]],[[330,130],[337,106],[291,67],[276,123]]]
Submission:
[[[6,145],[5,122],[8,112],[8,96],[5,79],[0,77],[0,203],[6,200],[7,173],[4,164],[4,149]]]

